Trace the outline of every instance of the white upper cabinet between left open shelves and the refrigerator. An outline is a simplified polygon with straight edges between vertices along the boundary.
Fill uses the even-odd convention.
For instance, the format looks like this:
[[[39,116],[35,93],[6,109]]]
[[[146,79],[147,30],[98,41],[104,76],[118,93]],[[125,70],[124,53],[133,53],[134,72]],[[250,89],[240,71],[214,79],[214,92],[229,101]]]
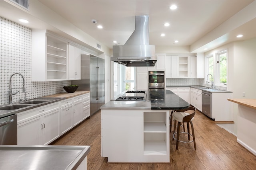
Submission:
[[[68,80],[81,80],[81,49],[68,43]]]

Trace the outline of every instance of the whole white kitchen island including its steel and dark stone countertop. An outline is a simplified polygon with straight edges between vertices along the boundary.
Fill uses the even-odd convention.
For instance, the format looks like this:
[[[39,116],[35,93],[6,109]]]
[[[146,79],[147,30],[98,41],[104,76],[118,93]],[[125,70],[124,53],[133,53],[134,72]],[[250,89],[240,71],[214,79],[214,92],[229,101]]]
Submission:
[[[100,107],[101,156],[108,162],[170,162],[170,111],[189,106],[170,90],[150,90],[146,101],[106,103]]]

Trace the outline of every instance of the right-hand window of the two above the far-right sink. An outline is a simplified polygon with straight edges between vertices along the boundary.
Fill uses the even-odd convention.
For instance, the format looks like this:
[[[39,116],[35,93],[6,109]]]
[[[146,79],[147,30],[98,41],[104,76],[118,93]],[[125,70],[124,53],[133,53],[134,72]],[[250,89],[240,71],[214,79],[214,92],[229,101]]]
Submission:
[[[216,84],[218,86],[227,83],[227,50],[216,53]]]

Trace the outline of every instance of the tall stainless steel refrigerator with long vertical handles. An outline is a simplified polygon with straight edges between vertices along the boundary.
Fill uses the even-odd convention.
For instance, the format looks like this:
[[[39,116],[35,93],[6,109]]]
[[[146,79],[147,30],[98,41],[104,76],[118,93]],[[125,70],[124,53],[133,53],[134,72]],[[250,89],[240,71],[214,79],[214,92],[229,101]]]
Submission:
[[[81,80],[72,80],[77,90],[90,91],[90,115],[105,104],[105,62],[93,55],[81,54]]]

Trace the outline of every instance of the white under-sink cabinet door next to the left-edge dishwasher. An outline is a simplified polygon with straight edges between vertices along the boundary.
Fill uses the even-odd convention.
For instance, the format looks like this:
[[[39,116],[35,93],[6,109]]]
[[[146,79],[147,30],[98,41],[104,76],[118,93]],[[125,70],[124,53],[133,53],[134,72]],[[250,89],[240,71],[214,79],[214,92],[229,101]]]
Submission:
[[[41,117],[18,124],[18,145],[42,145]]]

